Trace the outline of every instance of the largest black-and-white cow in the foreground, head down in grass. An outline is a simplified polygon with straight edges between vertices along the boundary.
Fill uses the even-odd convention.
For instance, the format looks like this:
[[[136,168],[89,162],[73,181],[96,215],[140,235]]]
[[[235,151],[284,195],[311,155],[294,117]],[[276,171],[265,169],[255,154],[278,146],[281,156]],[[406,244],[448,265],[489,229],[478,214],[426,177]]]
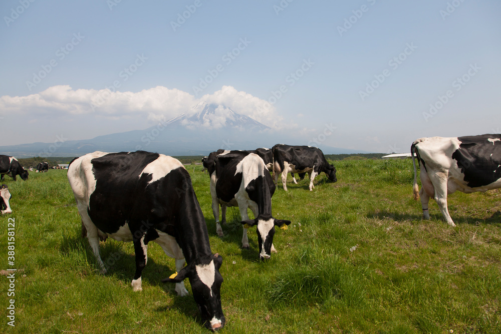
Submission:
[[[142,290],[148,242],[155,241],[176,259],[176,274],[162,281],[175,282],[183,296],[188,293],[183,280],[188,278],[205,326],[224,326],[222,258],[211,253],[190,176],[178,160],[144,151],[94,152],[70,163],[68,180],[102,273],[106,268],[99,256],[99,237],[132,241],[136,272],[131,285],[134,291]]]

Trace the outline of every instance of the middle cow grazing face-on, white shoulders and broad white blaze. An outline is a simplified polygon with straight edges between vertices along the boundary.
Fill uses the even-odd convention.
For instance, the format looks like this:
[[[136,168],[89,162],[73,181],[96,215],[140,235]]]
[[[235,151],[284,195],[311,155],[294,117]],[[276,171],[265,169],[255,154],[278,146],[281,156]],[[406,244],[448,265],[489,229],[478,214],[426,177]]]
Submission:
[[[286,229],[291,221],[272,217],[275,184],[265,162],[254,153],[225,151],[215,157],[214,164],[210,194],[217,234],[223,234],[219,225],[219,204],[223,208],[238,206],[243,224],[242,248],[249,248],[247,227],[257,226],[259,257],[270,258],[271,253],[276,252],[273,246],[275,226]],[[255,219],[249,219],[247,208],[252,210]]]

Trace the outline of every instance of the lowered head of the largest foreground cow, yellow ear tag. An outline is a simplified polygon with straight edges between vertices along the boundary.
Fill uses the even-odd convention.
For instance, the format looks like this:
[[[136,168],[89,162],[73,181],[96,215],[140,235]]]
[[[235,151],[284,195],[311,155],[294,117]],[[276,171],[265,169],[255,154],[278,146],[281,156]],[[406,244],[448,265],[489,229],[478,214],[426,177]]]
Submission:
[[[193,298],[198,306],[205,327],[219,330],[224,326],[226,319],[221,308],[222,276],[219,268],[222,257],[213,254],[195,259],[177,274],[162,279],[162,282],[179,283],[188,278],[191,284]]]

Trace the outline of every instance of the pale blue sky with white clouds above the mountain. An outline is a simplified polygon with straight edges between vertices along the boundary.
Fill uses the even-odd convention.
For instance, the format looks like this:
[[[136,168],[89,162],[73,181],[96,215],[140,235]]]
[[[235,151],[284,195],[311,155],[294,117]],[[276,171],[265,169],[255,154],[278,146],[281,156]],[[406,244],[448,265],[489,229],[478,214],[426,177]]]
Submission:
[[[201,100],[363,151],[500,131],[500,2],[289,1],[3,1],[1,143],[145,129]]]

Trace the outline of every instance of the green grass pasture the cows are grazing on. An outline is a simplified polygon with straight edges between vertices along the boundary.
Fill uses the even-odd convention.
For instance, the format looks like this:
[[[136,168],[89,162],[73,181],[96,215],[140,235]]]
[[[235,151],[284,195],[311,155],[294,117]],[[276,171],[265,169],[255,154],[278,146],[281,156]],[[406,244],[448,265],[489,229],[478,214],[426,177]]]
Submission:
[[[215,233],[209,178],[187,166],[220,272],[226,333],[498,333],[501,332],[501,192],[449,196],[449,227],[430,201],[430,221],[412,199],[411,160],[343,160],[338,182],[308,177],[289,192],[277,187],[278,253],[259,261],[255,230],[240,248],[236,208],[225,236]],[[195,170],[193,171],[193,168]],[[160,280],[175,271],[155,243],[148,248],[143,291],[132,292],[131,243],[101,243],[108,274],[100,275],[66,171],[6,177],[14,212],[0,217],[0,269],[17,268],[15,296],[0,276],[0,332],[199,333],[191,296],[177,297]],[[15,220],[15,265],[8,264],[8,218]],[[11,219],[11,221],[12,221]],[[11,233],[12,234],[12,233]],[[190,291],[189,282],[185,282]],[[15,299],[15,327],[8,325]]]

